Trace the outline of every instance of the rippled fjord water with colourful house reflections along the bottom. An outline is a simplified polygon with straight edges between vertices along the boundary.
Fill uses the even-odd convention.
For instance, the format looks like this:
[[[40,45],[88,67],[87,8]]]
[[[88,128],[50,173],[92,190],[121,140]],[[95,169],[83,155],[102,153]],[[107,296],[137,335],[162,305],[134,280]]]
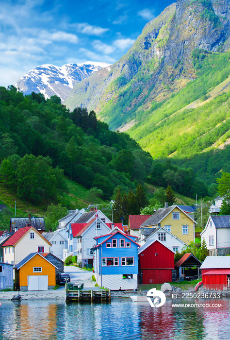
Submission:
[[[222,306],[172,307],[171,299],[159,308],[146,303],[135,304],[130,299],[92,305],[50,300],[1,301],[0,339],[229,339],[230,301],[227,298],[219,301],[186,300],[190,304],[216,302]]]

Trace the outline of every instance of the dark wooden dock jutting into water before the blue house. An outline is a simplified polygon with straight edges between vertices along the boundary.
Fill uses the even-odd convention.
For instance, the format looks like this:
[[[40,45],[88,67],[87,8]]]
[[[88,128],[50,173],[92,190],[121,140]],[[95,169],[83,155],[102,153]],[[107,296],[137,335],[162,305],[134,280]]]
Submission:
[[[111,291],[107,289],[68,289],[66,284],[66,301],[111,301]]]

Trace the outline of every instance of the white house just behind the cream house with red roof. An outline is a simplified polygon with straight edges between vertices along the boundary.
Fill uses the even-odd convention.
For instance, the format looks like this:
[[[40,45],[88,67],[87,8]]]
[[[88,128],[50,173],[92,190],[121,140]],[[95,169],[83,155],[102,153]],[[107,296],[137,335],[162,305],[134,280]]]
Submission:
[[[68,246],[66,228],[58,229],[49,233],[42,233],[42,236],[52,243],[50,253],[63,260],[63,250]]]

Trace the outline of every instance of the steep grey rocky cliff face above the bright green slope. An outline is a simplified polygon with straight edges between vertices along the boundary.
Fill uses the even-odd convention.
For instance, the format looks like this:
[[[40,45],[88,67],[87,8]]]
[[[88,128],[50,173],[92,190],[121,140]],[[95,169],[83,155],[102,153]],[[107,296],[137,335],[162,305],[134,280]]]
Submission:
[[[230,4],[227,0],[178,0],[150,21],[128,53],[98,82],[84,103],[116,129],[162,102],[196,78],[197,51],[230,47]],[[198,56],[197,56],[198,57]],[[87,79],[90,88],[91,77]],[[75,85],[66,104],[75,100]],[[70,105],[71,107],[71,105]]]

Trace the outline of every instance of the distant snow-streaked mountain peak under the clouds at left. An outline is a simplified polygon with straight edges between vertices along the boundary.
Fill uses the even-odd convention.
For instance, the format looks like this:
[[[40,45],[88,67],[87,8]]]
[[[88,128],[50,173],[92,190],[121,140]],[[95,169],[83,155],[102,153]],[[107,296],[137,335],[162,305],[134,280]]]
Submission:
[[[66,64],[61,68],[54,65],[42,65],[33,68],[15,84],[24,94],[43,93],[45,98],[57,95],[64,101],[71,89],[82,79],[89,77],[100,68],[107,68],[107,63],[87,62],[85,64]]]

